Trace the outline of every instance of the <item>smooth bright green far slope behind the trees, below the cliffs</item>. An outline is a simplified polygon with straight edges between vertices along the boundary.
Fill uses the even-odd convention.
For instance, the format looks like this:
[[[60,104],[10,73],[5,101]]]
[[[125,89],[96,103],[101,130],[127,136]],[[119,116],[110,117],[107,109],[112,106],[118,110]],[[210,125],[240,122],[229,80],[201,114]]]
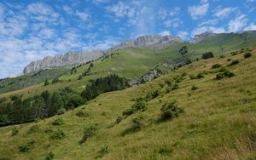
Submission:
[[[189,57],[192,60],[195,60],[196,57],[201,57],[201,54],[207,51],[212,51],[215,55],[218,55],[236,49],[255,46],[256,33],[219,34],[216,37],[208,37],[201,43],[175,43],[163,49],[122,49],[116,54],[113,54],[113,57],[96,60],[94,62],[95,67],[91,74],[84,77],[82,80],[78,80],[78,77],[88,68],[89,65],[80,67],[78,72],[73,75],[66,74],[61,76],[60,79],[63,83],[55,83],[47,87],[44,87],[44,83],[39,83],[37,85],[30,86],[29,88],[0,94],[0,98],[9,97],[13,94],[23,94],[23,97],[29,97],[34,94],[40,94],[44,90],[53,92],[56,89],[61,89],[67,86],[72,86],[73,89],[82,90],[89,79],[103,77],[111,72],[116,72],[126,78],[140,77],[151,68],[154,68],[154,66],[162,64],[166,60],[174,60],[180,57],[177,52],[183,45],[188,47]],[[9,81],[11,80],[12,79]],[[69,80],[71,81],[69,82]],[[44,82],[44,80],[42,79],[41,82]],[[5,91],[8,91],[8,89],[5,89]]]

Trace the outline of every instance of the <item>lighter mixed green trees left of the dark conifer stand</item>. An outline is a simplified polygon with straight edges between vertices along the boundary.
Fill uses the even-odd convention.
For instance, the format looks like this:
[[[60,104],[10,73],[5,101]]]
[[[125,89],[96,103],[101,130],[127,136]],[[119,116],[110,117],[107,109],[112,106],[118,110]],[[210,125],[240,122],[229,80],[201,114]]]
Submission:
[[[73,89],[61,89],[49,94],[44,91],[40,95],[22,100],[20,96],[0,100],[0,126],[29,123],[38,118],[52,117],[63,111],[84,104],[84,99]]]

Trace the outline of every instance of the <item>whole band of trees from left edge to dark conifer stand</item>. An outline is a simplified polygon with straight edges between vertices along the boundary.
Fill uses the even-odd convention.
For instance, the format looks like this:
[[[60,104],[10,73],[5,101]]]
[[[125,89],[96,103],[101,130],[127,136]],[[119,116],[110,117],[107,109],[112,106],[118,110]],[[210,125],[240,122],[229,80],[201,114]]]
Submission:
[[[112,74],[90,80],[82,93],[67,87],[53,94],[46,90],[42,94],[27,99],[22,99],[18,95],[13,95],[8,99],[2,98],[0,99],[0,126],[29,123],[38,118],[62,114],[84,105],[86,101],[96,98],[99,94],[125,89],[128,85],[125,78]]]

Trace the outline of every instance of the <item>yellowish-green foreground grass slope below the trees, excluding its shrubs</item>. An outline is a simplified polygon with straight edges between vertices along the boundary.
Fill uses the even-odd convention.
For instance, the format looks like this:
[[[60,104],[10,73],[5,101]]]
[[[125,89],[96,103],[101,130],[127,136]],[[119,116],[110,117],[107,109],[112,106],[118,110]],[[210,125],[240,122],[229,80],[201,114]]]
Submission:
[[[227,66],[227,59],[240,60],[236,66]],[[44,159],[53,151],[56,159],[94,159],[102,146],[108,146],[109,153],[103,159],[252,159],[256,157],[256,50],[253,56],[243,54],[227,56],[224,59],[200,60],[183,66],[150,83],[123,91],[102,94],[86,106],[68,111],[62,117],[65,124],[53,126],[56,117],[39,123],[17,125],[20,133],[11,137],[13,126],[0,129],[0,157],[11,159]],[[189,75],[200,71],[216,71],[212,64],[219,63],[233,71],[236,76],[214,80],[216,73],[209,73],[201,79],[191,80]],[[179,89],[165,93],[160,83],[177,74],[188,73]],[[199,89],[191,91],[195,85]],[[148,110],[126,118],[108,129],[122,111],[130,108],[132,99],[144,96],[148,91],[160,89],[158,98],[148,103]],[[172,121],[157,123],[160,107],[168,101],[177,100],[184,113]],[[77,117],[79,110],[88,111],[89,117]],[[102,116],[102,112],[106,116]],[[129,128],[131,118],[143,115],[143,130],[122,136]],[[98,123],[97,134],[79,145],[86,124]],[[27,134],[32,125],[39,131]],[[44,129],[63,129],[63,140],[49,140],[51,134]],[[20,153],[18,146],[28,140],[35,140],[35,148],[29,153]],[[160,149],[167,148],[166,154]]]

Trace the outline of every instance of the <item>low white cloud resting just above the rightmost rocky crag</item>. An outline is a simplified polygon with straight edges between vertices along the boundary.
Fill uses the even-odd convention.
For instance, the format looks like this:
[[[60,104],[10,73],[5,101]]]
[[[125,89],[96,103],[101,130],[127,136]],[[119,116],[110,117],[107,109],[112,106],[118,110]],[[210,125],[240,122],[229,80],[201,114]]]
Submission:
[[[223,32],[225,32],[223,27],[201,26],[201,27],[195,28],[191,32],[191,37],[195,37],[195,35],[199,35],[201,33],[207,32],[207,31],[214,32],[214,33],[223,33]]]

